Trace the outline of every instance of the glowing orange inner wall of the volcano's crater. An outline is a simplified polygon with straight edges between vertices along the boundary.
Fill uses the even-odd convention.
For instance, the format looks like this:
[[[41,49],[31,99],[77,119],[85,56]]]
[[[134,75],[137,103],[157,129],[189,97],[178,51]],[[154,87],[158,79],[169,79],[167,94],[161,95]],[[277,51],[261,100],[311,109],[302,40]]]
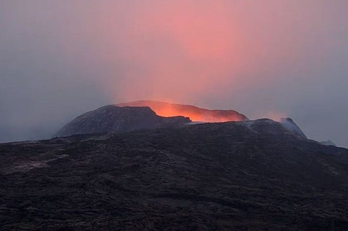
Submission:
[[[192,121],[214,123],[229,121],[245,121],[248,118],[235,110],[210,110],[191,105],[171,104],[166,102],[141,100],[116,104],[118,107],[150,107],[159,116],[184,116]]]

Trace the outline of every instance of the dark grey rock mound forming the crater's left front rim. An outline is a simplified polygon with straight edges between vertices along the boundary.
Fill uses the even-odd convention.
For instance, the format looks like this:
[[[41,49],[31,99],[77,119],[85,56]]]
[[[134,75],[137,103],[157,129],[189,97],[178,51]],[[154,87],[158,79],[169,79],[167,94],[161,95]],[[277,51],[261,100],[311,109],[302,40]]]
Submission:
[[[115,105],[108,105],[77,117],[61,128],[56,136],[124,132],[182,125],[189,122],[190,119],[183,116],[158,116],[150,107],[116,107]]]

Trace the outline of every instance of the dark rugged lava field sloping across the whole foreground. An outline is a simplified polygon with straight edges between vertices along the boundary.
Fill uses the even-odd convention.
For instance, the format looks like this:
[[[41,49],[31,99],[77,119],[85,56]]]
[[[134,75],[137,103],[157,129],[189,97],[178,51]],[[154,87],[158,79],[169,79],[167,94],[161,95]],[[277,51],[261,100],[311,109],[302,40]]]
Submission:
[[[0,230],[348,230],[348,150],[280,123],[0,145]]]

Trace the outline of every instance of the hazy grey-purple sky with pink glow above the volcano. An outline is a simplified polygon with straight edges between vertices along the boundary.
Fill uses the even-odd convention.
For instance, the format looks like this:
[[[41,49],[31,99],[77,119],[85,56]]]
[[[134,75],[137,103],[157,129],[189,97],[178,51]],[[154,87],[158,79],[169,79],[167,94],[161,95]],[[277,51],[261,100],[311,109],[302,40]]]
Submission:
[[[348,0],[0,0],[0,142],[152,99],[348,147]]]

